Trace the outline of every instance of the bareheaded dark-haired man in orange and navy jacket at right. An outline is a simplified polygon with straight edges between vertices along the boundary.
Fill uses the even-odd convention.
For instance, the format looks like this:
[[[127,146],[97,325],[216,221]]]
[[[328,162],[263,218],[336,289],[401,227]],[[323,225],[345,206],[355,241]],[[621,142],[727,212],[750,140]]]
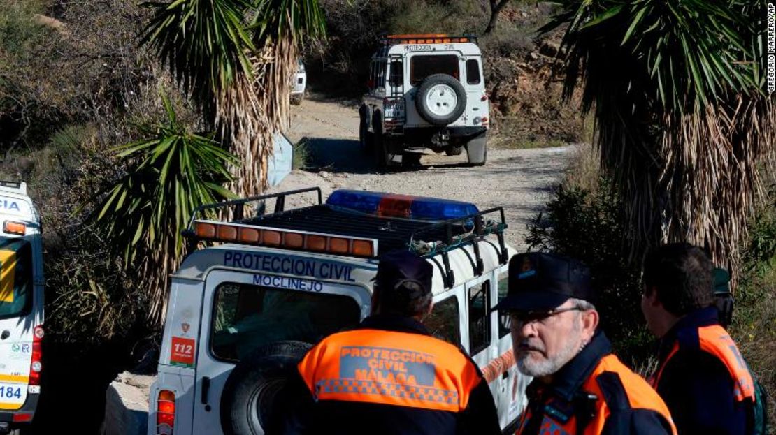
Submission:
[[[699,247],[671,243],[647,257],[644,283],[641,309],[660,339],[652,382],[679,433],[750,433],[754,383],[719,325],[712,261]]]

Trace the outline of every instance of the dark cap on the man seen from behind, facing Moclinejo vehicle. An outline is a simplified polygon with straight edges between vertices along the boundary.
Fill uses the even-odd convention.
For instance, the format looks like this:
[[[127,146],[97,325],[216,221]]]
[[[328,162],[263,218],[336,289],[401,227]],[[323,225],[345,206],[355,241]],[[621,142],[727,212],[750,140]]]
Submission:
[[[393,250],[380,255],[377,264],[377,281],[381,289],[395,290],[405,281],[416,282],[424,292],[431,292],[434,268],[424,258],[409,250]]]

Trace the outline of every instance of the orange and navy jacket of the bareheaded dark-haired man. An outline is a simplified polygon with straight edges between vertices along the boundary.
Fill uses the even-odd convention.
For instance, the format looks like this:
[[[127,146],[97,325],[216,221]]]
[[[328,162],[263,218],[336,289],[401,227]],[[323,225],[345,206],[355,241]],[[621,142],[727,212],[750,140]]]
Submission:
[[[747,433],[752,376],[715,307],[690,312],[663,336],[651,382],[681,435]]]

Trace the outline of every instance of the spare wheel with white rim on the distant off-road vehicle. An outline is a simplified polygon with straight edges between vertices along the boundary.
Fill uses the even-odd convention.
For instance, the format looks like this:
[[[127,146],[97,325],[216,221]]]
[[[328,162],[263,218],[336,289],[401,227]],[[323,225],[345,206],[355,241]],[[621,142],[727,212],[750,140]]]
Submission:
[[[452,75],[431,74],[417,88],[415,107],[431,125],[446,126],[466,109],[466,91]]]

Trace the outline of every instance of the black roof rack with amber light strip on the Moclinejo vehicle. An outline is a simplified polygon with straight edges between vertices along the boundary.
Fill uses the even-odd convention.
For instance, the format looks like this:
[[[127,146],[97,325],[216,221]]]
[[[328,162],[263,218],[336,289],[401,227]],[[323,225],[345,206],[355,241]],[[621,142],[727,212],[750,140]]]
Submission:
[[[285,209],[286,198],[307,192],[317,192],[318,202],[296,209]],[[342,191],[340,191],[342,192]],[[345,191],[348,193],[348,191]],[[370,192],[365,192],[369,194]],[[265,200],[275,199],[275,209],[265,214]],[[412,197],[414,198],[414,197]],[[442,200],[444,201],[444,200]],[[255,216],[244,216],[248,203],[257,202]],[[227,215],[234,207],[234,219],[224,222],[197,219],[206,210],[218,210]],[[476,210],[476,208],[475,208]],[[497,217],[490,218],[497,214]],[[450,268],[449,252],[460,247],[473,247],[475,275],[483,273],[483,259],[477,243],[494,234],[498,240],[501,264],[508,261],[504,244],[507,224],[504,209],[496,207],[445,220],[407,219],[396,216],[376,216],[323,202],[320,188],[304,188],[288,192],[254,196],[246,199],[202,205],[192,213],[183,235],[196,240],[242,243],[289,250],[307,250],[352,257],[378,257],[381,252],[408,249],[421,257],[442,257],[440,268],[445,287],[452,287],[455,276]]]

